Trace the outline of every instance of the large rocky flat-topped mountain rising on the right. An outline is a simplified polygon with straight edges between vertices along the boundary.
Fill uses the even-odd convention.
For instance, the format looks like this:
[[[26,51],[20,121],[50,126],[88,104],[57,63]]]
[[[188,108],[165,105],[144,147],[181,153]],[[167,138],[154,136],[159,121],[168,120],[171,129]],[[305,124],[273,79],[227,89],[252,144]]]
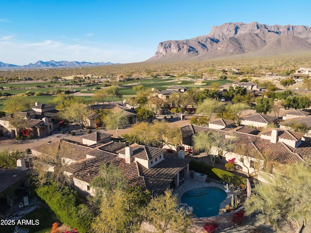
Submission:
[[[199,61],[228,56],[264,56],[311,52],[308,26],[269,26],[257,22],[225,23],[210,33],[186,40],[160,42],[147,61]]]

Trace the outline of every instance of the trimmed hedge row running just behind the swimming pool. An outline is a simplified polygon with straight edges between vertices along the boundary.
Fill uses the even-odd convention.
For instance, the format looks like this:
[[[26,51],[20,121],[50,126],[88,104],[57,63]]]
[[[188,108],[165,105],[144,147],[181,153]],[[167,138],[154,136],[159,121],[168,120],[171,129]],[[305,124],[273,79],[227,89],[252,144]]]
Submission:
[[[208,177],[215,180],[224,181],[225,183],[233,183],[233,185],[235,186],[238,186],[240,184],[246,184],[245,178],[237,176],[230,171],[225,171],[213,166],[209,166],[203,162],[191,160],[189,164],[189,169],[206,174]]]

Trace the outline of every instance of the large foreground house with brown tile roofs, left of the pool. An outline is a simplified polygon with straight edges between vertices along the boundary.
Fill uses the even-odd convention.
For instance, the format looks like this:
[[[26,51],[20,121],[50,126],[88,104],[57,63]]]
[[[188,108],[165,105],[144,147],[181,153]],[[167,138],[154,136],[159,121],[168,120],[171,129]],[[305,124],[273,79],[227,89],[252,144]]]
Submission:
[[[93,195],[92,179],[99,175],[104,164],[114,164],[124,170],[130,186],[141,186],[152,194],[161,194],[178,187],[189,177],[190,160],[166,157],[164,149],[133,144],[107,142],[87,146],[70,140],[60,140],[31,148],[33,155],[44,156],[60,152],[65,173],[74,183],[79,195]],[[53,171],[53,167],[49,168]]]

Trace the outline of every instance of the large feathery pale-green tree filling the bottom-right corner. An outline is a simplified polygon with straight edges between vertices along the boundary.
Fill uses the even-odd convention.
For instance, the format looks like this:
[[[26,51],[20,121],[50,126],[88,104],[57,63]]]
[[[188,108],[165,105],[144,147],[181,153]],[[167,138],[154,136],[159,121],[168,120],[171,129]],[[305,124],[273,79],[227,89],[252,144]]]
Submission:
[[[246,215],[259,213],[257,217],[275,229],[284,222],[292,225],[294,221],[296,232],[304,232],[311,219],[311,183],[306,182],[311,179],[310,166],[308,159],[285,165],[273,175],[266,174],[267,183],[256,183],[252,195],[245,202]]]

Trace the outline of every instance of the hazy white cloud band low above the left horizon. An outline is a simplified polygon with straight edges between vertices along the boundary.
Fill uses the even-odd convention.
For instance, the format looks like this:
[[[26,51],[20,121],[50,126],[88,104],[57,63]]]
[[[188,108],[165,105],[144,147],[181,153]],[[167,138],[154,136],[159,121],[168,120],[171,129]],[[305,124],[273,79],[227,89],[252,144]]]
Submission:
[[[27,65],[38,60],[132,63],[144,61],[153,55],[153,52],[122,44],[84,42],[82,45],[76,41],[69,44],[54,40],[36,43],[0,40],[0,51],[1,62],[15,65]]]

